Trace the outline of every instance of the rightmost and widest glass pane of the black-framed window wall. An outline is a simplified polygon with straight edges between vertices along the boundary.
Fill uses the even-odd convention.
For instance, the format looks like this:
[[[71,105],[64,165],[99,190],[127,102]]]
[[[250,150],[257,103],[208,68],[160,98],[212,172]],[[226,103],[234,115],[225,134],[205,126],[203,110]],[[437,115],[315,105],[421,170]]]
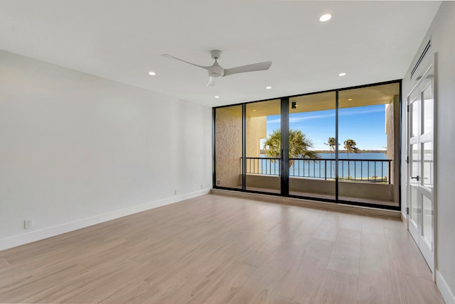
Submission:
[[[393,173],[399,97],[397,83],[338,93],[340,200],[398,206]]]

